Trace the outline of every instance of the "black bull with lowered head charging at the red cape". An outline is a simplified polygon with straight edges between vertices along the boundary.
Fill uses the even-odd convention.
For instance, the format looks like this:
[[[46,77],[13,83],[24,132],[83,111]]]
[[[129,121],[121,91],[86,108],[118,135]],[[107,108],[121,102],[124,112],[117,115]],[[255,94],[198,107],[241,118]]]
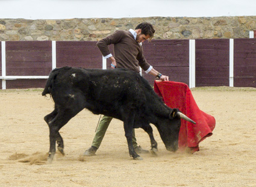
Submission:
[[[152,133],[154,124],[167,150],[178,149],[181,118],[195,123],[178,109],[169,108],[155,94],[146,79],[129,70],[96,70],[62,67],[52,70],[42,95],[51,94],[54,111],[45,116],[49,126],[50,150],[48,161],[55,155],[55,142],[63,152],[63,139],[58,132],[84,108],[93,114],[104,114],[123,121],[130,156],[141,159],[132,144],[133,128],[144,129],[157,150]]]

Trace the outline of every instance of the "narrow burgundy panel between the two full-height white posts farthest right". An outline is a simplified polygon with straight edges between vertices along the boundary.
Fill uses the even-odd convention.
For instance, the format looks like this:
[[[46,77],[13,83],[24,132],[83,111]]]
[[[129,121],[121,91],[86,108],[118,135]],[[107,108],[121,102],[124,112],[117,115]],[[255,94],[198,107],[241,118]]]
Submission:
[[[229,86],[229,40],[196,40],[196,87]]]

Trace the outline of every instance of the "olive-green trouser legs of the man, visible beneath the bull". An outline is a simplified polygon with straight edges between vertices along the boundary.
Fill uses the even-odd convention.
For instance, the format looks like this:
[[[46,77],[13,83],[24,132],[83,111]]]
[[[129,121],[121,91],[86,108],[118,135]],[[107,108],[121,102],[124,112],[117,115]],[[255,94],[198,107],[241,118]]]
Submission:
[[[99,146],[101,146],[102,139],[104,138],[104,135],[108,129],[108,126],[110,124],[110,121],[113,119],[113,117],[109,117],[107,115],[104,115],[99,122],[98,129],[96,131],[96,134],[93,138],[92,146],[97,147],[99,149]],[[135,138],[135,132],[133,129],[133,147],[134,149],[137,147],[137,140]]]

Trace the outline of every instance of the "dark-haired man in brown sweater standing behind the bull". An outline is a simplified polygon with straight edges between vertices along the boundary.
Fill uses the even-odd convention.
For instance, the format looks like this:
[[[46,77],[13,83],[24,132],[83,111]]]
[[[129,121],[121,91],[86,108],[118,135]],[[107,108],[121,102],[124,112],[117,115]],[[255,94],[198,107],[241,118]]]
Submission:
[[[129,31],[117,30],[111,35],[98,41],[97,46],[104,58],[109,58],[112,62],[111,68],[130,69],[135,72],[140,72],[141,67],[146,73],[156,76],[161,81],[169,81],[168,76],[164,76],[157,72],[151,65],[149,65],[143,55],[142,42],[151,40],[154,36],[155,29],[150,23],[140,23],[135,30]],[[114,44],[114,57],[108,49],[108,45]],[[93,156],[96,150],[99,149],[105,132],[112,117],[104,116],[99,123],[95,137],[93,139],[92,147],[86,150],[84,155]],[[148,150],[143,150],[142,147],[137,146],[135,133],[133,130],[133,146],[137,153],[148,153]]]

